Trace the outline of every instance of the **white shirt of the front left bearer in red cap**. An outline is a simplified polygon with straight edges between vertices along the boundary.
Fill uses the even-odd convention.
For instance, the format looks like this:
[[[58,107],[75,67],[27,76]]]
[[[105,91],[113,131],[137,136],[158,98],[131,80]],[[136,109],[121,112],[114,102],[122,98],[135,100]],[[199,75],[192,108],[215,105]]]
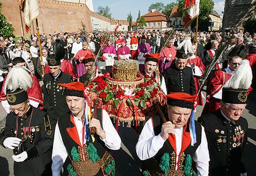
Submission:
[[[116,129],[113,127],[113,124],[109,118],[108,113],[103,110],[102,114],[102,125],[103,125],[103,130],[105,131],[105,139],[101,139],[107,148],[111,150],[119,150],[121,146],[121,139],[116,132]],[[76,125],[76,129],[78,131],[80,143],[82,144],[83,142],[83,122],[82,120],[76,117],[73,117]],[[86,135],[86,134],[85,134]],[[86,141],[84,140],[84,143]],[[66,161],[66,158],[68,156],[68,152],[66,150],[66,147],[63,143],[62,136],[59,131],[59,125],[58,123],[56,124],[55,128],[55,133],[54,133],[54,145],[52,149],[52,175],[60,175],[60,170],[62,169],[62,165]]]

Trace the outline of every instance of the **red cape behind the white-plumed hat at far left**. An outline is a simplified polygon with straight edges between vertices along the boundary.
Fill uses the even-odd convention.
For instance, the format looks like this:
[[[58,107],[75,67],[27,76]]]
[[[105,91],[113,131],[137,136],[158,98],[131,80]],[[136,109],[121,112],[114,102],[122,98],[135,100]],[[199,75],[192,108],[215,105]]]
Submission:
[[[30,74],[31,76],[31,74]],[[42,94],[42,90],[40,87],[40,84],[38,82],[38,80],[36,79],[35,76],[31,76],[32,77],[32,87],[29,88],[27,87],[27,95],[29,97],[29,100],[32,100],[34,102],[39,103],[38,108],[42,109],[43,108],[43,94]],[[3,80],[3,85],[5,84],[6,78]],[[0,93],[0,100],[3,101],[7,101],[5,93],[3,92],[3,87]]]

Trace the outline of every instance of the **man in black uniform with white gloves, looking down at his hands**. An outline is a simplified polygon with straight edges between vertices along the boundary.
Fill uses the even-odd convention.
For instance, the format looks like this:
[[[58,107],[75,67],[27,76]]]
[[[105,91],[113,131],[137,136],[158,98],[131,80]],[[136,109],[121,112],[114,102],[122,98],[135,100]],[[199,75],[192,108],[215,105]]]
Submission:
[[[54,132],[50,118],[30,106],[25,89],[7,90],[6,98],[11,112],[0,144],[13,149],[14,175],[51,175]]]

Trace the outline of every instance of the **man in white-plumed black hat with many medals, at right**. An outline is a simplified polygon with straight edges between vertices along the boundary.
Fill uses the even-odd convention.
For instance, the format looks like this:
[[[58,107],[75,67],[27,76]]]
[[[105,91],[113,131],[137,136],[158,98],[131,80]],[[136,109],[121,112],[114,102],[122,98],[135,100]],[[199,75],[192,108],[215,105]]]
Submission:
[[[251,82],[251,79],[249,81],[245,79],[249,78],[251,73],[243,74],[247,77],[242,79],[245,84],[238,82],[241,88],[234,89],[234,81],[241,80],[238,75],[242,76],[241,72],[244,70],[251,72],[249,65],[248,68],[242,66],[224,85],[221,108],[198,118],[198,121],[205,127],[210,154],[209,175],[211,176],[247,175],[243,152],[247,142],[248,123],[242,117],[242,112],[246,107],[247,89]]]

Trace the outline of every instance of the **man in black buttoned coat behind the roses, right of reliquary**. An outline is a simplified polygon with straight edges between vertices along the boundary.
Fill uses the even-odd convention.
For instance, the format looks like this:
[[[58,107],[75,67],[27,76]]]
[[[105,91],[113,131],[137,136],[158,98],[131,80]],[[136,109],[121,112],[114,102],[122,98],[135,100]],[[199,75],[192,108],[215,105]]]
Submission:
[[[177,50],[176,58],[165,70],[164,79],[167,93],[182,92],[196,94],[192,69],[186,66],[188,55],[183,49]]]

